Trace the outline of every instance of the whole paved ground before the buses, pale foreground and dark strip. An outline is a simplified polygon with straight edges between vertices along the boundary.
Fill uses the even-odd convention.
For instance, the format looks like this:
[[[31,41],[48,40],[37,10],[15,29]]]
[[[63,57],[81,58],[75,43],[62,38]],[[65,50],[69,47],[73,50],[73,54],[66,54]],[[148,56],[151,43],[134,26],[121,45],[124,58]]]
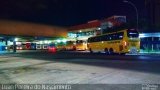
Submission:
[[[72,51],[22,51],[4,54],[0,55],[0,83],[160,84],[159,56]]]

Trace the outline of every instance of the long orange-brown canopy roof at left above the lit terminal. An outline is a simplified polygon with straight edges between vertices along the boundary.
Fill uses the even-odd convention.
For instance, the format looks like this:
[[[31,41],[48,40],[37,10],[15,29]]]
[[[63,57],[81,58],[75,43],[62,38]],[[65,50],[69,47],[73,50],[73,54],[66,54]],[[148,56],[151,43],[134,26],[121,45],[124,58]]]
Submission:
[[[0,20],[1,35],[66,37],[67,29],[42,24]]]

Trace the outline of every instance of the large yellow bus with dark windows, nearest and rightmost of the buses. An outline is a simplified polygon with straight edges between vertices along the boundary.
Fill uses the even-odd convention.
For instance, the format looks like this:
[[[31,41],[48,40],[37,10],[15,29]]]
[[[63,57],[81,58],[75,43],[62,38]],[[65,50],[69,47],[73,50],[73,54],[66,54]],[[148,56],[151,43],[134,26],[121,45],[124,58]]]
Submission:
[[[88,49],[91,53],[138,53],[140,51],[139,33],[135,29],[125,29],[90,37],[88,38]]]

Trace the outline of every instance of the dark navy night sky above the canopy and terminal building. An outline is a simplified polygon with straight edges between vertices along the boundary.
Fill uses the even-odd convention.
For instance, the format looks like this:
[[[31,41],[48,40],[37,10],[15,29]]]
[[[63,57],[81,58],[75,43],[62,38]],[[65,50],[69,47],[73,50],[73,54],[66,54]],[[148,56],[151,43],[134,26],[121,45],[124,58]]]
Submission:
[[[72,26],[112,15],[135,19],[134,8],[123,0],[0,0],[0,18]],[[144,0],[130,0],[144,15]]]

